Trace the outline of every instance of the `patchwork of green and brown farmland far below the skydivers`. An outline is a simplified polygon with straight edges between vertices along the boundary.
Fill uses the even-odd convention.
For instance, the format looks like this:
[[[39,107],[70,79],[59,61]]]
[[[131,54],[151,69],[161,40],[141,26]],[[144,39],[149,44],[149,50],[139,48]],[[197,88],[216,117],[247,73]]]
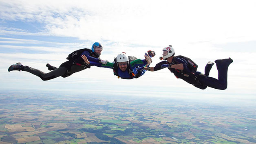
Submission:
[[[32,92],[0,101],[0,144],[256,144],[255,107]]]

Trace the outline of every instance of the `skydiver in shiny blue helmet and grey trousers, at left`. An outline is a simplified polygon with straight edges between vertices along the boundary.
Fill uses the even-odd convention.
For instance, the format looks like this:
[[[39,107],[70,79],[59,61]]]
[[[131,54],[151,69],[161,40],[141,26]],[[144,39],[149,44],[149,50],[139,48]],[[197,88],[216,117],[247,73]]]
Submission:
[[[88,64],[84,62],[82,59],[82,55],[86,55],[88,60],[106,64],[107,61],[101,60],[99,56],[101,55],[103,50],[102,45],[99,42],[95,42],[92,45],[91,49],[84,48],[80,50],[76,50],[68,55],[68,61],[62,63],[59,68],[51,66],[49,63],[46,64],[48,70],[51,72],[44,73],[35,68],[31,68],[29,66],[24,66],[22,63],[16,63],[9,67],[8,71],[18,70],[18,71],[26,71],[40,77],[43,81],[48,81],[50,79],[57,78],[59,76],[67,77],[75,72],[79,72],[81,70],[85,70],[86,68],[90,68]]]

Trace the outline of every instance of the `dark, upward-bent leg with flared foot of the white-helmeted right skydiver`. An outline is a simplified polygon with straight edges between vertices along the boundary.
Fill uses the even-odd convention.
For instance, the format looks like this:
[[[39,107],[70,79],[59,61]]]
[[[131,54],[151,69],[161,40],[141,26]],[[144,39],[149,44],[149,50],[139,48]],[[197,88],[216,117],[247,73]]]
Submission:
[[[219,59],[216,60],[216,66],[218,69],[218,79],[206,76],[203,79],[200,79],[200,82],[203,85],[207,85],[208,87],[212,87],[215,89],[224,90],[227,88],[227,69],[230,63],[232,63],[232,59]]]

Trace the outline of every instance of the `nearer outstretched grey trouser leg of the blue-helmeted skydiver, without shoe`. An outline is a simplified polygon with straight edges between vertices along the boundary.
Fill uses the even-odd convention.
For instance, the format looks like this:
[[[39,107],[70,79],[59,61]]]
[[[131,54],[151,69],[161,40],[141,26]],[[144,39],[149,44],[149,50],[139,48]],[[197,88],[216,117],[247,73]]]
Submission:
[[[29,72],[31,74],[34,74],[36,76],[39,76],[43,81],[48,81],[50,79],[57,78],[59,76],[62,76],[66,73],[67,69],[65,67],[57,68],[49,73],[44,73],[40,70],[37,70],[35,68],[31,68],[29,66],[24,66],[23,71]]]

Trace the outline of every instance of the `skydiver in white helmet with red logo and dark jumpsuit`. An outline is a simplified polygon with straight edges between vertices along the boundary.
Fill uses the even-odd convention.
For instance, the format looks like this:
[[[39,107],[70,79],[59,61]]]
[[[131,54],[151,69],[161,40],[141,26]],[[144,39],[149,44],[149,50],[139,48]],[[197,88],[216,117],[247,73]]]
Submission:
[[[218,59],[215,61],[218,69],[218,79],[209,76],[213,62],[208,62],[205,66],[205,74],[196,71],[197,65],[188,57],[176,56],[172,46],[163,48],[163,57],[165,61],[157,63],[154,67],[145,67],[145,70],[157,71],[163,68],[168,68],[178,79],[194,85],[199,89],[206,89],[206,87],[212,87],[214,89],[224,90],[227,88],[227,69],[232,59]]]

